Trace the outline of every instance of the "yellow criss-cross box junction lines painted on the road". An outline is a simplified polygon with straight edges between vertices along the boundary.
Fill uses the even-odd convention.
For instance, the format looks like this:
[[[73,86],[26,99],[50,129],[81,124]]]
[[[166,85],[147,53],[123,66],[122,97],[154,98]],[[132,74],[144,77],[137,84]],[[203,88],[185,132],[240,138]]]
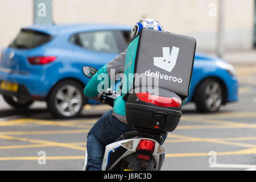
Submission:
[[[246,90],[246,89],[245,89]],[[205,114],[205,115],[188,115],[182,117],[183,121],[187,122],[199,122],[208,123],[213,125],[182,125],[178,126],[178,130],[187,129],[232,129],[232,128],[250,128],[256,129],[256,124],[233,122],[233,121],[220,121],[221,118],[255,118],[256,112],[254,111],[241,111],[241,112],[222,112],[217,114]],[[214,120],[215,119],[215,120]],[[0,122],[0,126],[12,126],[12,125],[53,125],[53,126],[65,126],[65,127],[77,127],[82,128],[81,130],[49,130],[49,131],[5,131],[0,133],[0,138],[19,140],[23,142],[30,142],[35,144],[26,145],[16,145],[16,146],[0,146],[0,149],[11,149],[11,148],[32,148],[32,147],[64,147],[71,148],[73,150],[85,151],[85,142],[75,142],[75,143],[61,143],[52,142],[47,140],[36,140],[21,137],[11,137],[9,135],[36,135],[36,134],[72,134],[72,133],[87,133],[92,125],[81,125],[82,123],[94,123],[97,119],[86,119],[86,120],[72,120],[72,121],[45,121],[40,119],[14,119],[10,121]],[[246,147],[245,150],[240,151],[228,151],[228,152],[217,152],[217,155],[246,155],[246,154],[256,154],[256,145],[247,144],[233,141],[242,140],[256,140],[256,137],[237,137],[237,138],[199,138],[199,137],[187,137],[184,135],[174,135],[169,134],[167,143],[175,142],[210,142],[218,144],[229,144],[232,146]],[[181,154],[166,154],[166,157],[185,157],[185,156],[208,156],[207,152],[199,153],[181,153]],[[15,156],[0,158],[0,160],[38,160],[39,156]],[[84,159],[84,156],[47,156],[47,160],[68,160],[68,159]]]

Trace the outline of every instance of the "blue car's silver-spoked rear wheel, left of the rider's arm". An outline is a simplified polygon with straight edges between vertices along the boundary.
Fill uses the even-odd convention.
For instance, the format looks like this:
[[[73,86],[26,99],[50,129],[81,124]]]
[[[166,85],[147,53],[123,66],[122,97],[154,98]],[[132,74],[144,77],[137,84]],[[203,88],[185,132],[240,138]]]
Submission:
[[[84,88],[74,80],[59,82],[49,93],[47,107],[57,118],[73,118],[85,104]]]

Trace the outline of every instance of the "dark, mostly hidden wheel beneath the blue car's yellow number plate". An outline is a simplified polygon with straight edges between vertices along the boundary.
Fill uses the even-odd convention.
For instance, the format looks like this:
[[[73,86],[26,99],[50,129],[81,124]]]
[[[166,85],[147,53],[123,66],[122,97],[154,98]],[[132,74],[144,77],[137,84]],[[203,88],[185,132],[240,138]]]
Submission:
[[[3,100],[17,109],[27,109],[34,102],[33,100],[23,100],[15,96],[3,96]]]

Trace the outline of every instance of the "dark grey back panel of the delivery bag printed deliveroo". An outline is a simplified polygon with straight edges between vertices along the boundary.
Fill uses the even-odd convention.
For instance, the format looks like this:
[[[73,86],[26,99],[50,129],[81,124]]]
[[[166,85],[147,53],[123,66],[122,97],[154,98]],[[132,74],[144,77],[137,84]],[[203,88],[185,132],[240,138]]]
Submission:
[[[158,79],[159,88],[187,97],[195,59],[194,38],[143,28],[139,34],[134,73]],[[135,75],[135,80],[138,75]],[[152,79],[154,78],[154,79]],[[135,88],[147,82],[134,82]],[[154,81],[152,82],[154,86]]]

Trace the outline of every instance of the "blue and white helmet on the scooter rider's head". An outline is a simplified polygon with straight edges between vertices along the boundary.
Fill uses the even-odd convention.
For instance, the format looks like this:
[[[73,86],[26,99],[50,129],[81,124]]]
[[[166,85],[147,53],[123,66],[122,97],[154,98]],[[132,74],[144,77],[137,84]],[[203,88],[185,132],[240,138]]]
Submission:
[[[138,23],[136,23],[133,29],[131,30],[131,40],[133,40],[135,36],[139,34],[142,28],[151,28],[154,30],[164,31],[162,24],[160,24],[157,20],[142,19]]]

